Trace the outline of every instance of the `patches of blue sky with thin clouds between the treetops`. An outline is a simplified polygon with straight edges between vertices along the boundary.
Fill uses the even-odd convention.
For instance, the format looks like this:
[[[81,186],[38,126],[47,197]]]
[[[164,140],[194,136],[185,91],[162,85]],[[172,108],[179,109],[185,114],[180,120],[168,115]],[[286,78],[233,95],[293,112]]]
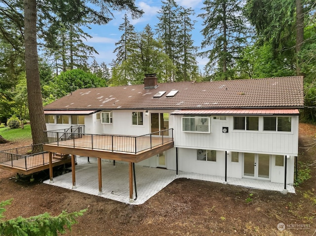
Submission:
[[[185,8],[191,7],[195,10],[195,16],[192,19],[197,20],[195,24],[195,30],[192,32],[195,45],[200,47],[200,43],[203,39],[200,31],[203,29],[201,18],[197,17],[197,14],[201,12],[203,7],[203,0],[175,0],[178,5]],[[142,9],[145,13],[139,19],[133,20],[129,18],[130,23],[134,26],[136,32],[141,32],[144,27],[149,24],[153,30],[158,23],[158,11],[161,6],[161,0],[136,0],[136,5]],[[116,48],[115,43],[118,42],[122,32],[118,31],[118,26],[123,22],[123,16],[125,12],[114,12],[115,19],[104,26],[91,25],[91,30],[85,29],[86,33],[90,34],[92,38],[88,39],[86,44],[93,46],[99,53],[94,55],[97,62],[101,64],[105,62],[107,65],[112,62],[116,54],[113,53]],[[204,67],[207,59],[197,58],[200,69]]]

